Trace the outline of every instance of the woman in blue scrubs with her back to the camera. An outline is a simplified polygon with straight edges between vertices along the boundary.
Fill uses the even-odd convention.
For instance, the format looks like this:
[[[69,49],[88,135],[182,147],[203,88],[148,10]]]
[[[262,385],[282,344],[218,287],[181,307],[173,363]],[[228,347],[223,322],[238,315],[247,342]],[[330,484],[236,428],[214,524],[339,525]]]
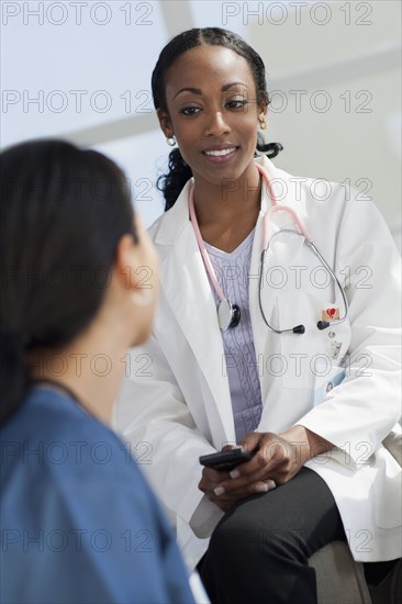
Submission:
[[[158,289],[124,175],[63,141],[0,161],[1,602],[192,602],[156,499],[105,425]]]

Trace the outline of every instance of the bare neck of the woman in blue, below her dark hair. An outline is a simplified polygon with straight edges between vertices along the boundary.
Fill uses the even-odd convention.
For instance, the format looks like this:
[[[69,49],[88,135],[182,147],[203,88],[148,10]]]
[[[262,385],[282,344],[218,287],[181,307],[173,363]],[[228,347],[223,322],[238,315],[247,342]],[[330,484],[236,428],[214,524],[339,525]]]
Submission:
[[[68,390],[91,415],[109,425],[125,368],[127,343],[90,329],[62,349],[37,349],[29,354],[34,381],[49,381]]]

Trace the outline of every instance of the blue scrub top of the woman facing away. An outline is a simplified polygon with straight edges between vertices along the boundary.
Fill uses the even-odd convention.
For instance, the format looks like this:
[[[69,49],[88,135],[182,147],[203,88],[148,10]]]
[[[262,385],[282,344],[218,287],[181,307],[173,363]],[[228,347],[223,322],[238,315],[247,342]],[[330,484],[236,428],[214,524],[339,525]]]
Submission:
[[[2,604],[193,602],[172,532],[112,430],[41,387],[0,434]]]

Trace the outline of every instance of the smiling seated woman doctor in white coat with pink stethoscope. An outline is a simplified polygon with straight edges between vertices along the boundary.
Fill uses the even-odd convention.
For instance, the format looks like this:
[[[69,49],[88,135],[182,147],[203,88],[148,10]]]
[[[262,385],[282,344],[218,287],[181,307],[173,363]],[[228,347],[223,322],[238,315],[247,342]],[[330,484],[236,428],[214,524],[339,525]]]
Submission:
[[[333,539],[365,562],[401,556],[400,468],[381,445],[400,417],[399,255],[360,193],[255,159],[265,68],[236,34],[176,36],[153,94],[178,148],[150,228],[154,336],[132,353],[118,427],[188,563],[208,550],[212,602],[316,602],[308,559]],[[231,473],[199,465],[236,443],[257,452]]]

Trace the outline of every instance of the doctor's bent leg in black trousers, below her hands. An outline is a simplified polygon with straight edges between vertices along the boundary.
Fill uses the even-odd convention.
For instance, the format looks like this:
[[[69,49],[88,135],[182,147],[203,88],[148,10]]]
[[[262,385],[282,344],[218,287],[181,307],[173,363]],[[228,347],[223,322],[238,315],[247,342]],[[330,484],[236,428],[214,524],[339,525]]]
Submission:
[[[213,604],[316,604],[309,558],[345,533],[334,497],[313,470],[233,506],[200,564]]]

